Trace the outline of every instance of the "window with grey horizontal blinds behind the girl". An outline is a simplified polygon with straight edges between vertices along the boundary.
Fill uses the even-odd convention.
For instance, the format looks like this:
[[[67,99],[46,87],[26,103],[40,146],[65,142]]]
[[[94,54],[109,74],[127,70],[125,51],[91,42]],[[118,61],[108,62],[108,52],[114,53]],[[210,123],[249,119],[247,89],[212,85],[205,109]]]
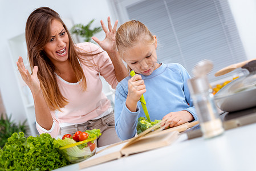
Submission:
[[[227,76],[215,77],[215,72],[247,59],[226,0],[116,0],[111,3],[120,24],[136,19],[157,36],[159,62],[180,63],[190,75],[196,63],[210,59],[214,68],[209,80],[214,82]]]

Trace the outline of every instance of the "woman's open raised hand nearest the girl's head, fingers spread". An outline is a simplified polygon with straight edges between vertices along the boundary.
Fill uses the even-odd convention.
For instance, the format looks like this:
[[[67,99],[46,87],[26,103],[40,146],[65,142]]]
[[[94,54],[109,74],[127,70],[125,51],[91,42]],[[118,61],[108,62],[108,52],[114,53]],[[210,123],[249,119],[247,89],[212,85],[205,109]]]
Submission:
[[[107,51],[108,53],[113,53],[116,51],[116,27],[118,21],[115,22],[114,27],[111,25],[110,17],[108,17],[108,28],[104,25],[104,22],[101,20],[101,27],[103,28],[103,31],[105,32],[105,39],[100,41],[95,36],[92,37],[92,39],[99,44],[103,50]]]

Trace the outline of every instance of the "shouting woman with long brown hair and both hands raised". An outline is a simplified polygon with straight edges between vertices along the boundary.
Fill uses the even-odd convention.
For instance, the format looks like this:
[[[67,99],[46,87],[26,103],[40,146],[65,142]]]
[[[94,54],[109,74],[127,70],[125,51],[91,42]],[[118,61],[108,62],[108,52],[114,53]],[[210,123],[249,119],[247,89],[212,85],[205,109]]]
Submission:
[[[115,133],[111,104],[101,92],[99,75],[115,88],[127,70],[117,56],[115,32],[108,18],[102,48],[93,43],[72,42],[59,14],[48,7],[34,10],[26,23],[27,52],[32,74],[19,56],[17,67],[29,86],[35,104],[36,128],[52,137],[100,129],[98,146],[120,141]],[[110,57],[110,59],[109,59]]]

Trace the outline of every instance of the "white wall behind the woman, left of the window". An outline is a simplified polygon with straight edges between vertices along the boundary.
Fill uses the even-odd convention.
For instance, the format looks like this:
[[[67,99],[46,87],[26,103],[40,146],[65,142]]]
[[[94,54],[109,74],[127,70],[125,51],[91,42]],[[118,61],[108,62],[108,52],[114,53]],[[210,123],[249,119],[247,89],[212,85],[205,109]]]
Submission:
[[[103,19],[104,23],[107,23],[108,16],[111,17],[112,23],[116,20],[109,9],[107,0],[0,0],[0,91],[7,115],[12,114],[12,118],[17,121],[25,120],[26,115],[25,107],[22,105],[21,95],[18,91],[18,83],[15,79],[7,41],[23,34],[27,17],[34,9],[42,6],[54,9],[62,18],[71,19],[75,24],[87,24],[91,19],[95,19],[92,27],[100,27],[100,19]],[[96,36],[102,40],[104,32],[101,31]]]

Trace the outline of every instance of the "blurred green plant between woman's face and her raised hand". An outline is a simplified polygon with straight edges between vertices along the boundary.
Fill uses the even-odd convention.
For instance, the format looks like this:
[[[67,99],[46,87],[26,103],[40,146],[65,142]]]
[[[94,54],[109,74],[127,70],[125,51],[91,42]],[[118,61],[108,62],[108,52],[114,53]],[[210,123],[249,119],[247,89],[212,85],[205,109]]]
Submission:
[[[90,28],[94,19],[92,19],[87,25],[77,24],[71,28],[72,34],[76,34],[84,38],[85,42],[92,42],[92,36],[102,30],[101,27]]]

